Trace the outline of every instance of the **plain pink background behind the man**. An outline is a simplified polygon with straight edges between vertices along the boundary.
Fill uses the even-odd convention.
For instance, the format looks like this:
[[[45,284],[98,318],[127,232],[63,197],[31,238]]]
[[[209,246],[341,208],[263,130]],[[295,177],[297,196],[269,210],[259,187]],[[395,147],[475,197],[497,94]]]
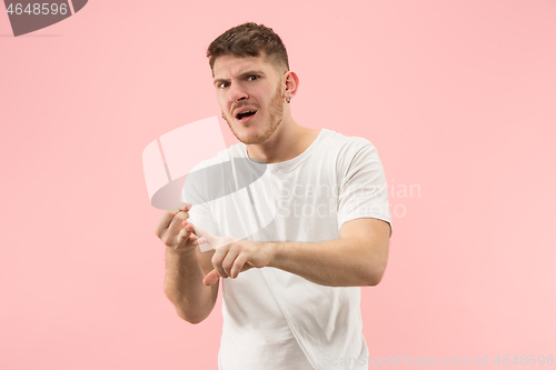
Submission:
[[[18,38],[0,13],[0,368],[217,368],[220,300],[192,326],[163,294],[141,152],[219,116],[206,48],[245,21],[282,38],[298,123],[379,150],[371,357],[556,356],[556,1],[90,1]]]

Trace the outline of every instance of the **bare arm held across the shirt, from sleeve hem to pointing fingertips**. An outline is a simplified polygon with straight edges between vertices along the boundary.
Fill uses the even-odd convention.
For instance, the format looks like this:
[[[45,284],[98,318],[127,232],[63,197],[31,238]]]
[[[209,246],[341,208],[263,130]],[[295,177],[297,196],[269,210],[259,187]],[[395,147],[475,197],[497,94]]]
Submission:
[[[321,286],[361,287],[376,286],[384,276],[390,227],[379,219],[355,219],[344,223],[340,239],[316,243],[221,242],[221,238],[201,232],[217,248],[211,259],[215,270],[205,284],[214,284],[219,277],[235,279],[254,267],[274,267]]]

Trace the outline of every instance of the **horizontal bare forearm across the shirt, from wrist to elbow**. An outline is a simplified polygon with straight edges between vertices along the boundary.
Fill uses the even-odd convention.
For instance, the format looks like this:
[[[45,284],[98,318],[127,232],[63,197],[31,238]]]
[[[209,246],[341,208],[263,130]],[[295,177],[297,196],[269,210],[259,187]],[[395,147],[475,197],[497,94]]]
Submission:
[[[270,267],[329,287],[376,286],[385,266],[383,256],[364,238],[316,243],[277,242]]]

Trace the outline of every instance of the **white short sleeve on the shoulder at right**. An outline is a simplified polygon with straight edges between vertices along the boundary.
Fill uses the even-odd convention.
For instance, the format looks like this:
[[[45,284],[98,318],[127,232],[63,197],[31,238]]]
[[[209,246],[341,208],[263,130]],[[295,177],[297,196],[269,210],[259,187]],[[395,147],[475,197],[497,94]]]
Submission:
[[[357,151],[341,178],[338,231],[345,222],[359,218],[375,218],[388,222],[391,237],[386,177],[378,151],[370,142]]]

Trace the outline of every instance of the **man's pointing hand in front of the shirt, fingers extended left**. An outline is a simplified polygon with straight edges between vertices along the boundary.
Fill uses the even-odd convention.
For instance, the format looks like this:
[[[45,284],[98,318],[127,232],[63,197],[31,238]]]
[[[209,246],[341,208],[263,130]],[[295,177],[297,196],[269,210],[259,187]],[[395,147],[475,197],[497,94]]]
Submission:
[[[201,238],[200,243],[208,243],[216,250],[211,259],[215,269],[202,280],[205,286],[212,286],[219,277],[236,279],[239,272],[260,269],[272,261],[274,243],[216,237],[197,226],[195,232]]]

